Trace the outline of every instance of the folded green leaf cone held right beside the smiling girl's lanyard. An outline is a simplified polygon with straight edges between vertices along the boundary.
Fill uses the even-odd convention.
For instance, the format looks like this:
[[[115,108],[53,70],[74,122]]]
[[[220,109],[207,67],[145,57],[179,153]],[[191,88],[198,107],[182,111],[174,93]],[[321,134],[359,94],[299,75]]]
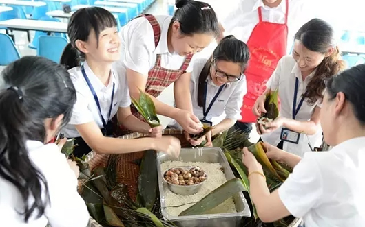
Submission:
[[[131,100],[137,111],[143,116],[149,126],[152,128],[160,126],[160,119],[157,117],[154,101],[151,97],[149,97],[149,95],[147,95],[147,93],[140,90],[139,99],[137,100],[134,97],[131,97]]]

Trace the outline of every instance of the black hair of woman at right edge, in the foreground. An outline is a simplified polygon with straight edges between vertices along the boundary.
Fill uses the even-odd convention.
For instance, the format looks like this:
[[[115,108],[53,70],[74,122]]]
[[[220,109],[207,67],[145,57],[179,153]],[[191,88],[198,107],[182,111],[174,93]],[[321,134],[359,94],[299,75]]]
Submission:
[[[337,93],[344,93],[346,100],[351,103],[357,120],[365,126],[365,64],[359,64],[328,79],[326,92],[329,100]]]

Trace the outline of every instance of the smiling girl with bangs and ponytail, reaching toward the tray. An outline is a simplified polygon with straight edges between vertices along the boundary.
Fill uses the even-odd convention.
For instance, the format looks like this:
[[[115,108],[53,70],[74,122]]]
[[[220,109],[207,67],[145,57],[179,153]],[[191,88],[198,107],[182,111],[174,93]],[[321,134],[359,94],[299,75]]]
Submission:
[[[131,113],[127,78],[112,69],[112,63],[120,58],[121,45],[114,16],[103,8],[82,8],[72,14],[67,33],[70,43],[63,51],[61,64],[69,69],[77,101],[63,133],[75,139],[74,155],[83,156],[91,150],[99,153],[148,149],[169,154],[180,152],[178,139],[161,138],[160,126],[152,129]],[[116,121],[129,130],[160,138],[138,141],[110,138],[114,115]]]

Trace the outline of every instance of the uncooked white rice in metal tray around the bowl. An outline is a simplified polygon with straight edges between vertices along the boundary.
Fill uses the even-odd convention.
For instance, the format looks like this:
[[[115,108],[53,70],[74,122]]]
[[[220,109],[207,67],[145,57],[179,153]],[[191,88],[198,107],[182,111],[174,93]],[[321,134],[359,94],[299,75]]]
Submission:
[[[167,169],[173,167],[181,167],[181,166],[199,166],[201,167],[207,174],[208,178],[202,187],[198,191],[198,193],[194,195],[177,195],[170,191],[167,186],[164,187],[165,191],[165,205],[167,207],[167,213],[169,215],[178,216],[182,211],[185,211],[190,206],[194,205],[194,202],[198,202],[205,195],[211,193],[214,189],[220,187],[220,185],[224,184],[227,181],[225,174],[221,170],[222,166],[219,163],[200,163],[200,162],[181,162],[181,161],[167,161],[165,163],[161,163],[161,171],[165,173]],[[180,206],[186,204],[184,206]],[[179,206],[179,207],[169,207],[169,206]],[[236,213],[236,206],[233,202],[233,198],[227,199],[225,202],[213,208],[209,211],[209,214],[216,213]]]

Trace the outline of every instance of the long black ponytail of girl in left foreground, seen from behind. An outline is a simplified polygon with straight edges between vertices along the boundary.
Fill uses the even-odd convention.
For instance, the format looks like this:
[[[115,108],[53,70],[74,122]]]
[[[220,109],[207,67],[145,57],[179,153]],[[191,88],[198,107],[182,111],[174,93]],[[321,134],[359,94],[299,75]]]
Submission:
[[[18,212],[28,222],[35,211],[37,218],[43,215],[50,197],[45,177],[34,167],[28,155],[26,135],[34,133],[29,131],[34,122],[22,102],[23,99],[10,89],[0,93],[0,177],[18,189],[24,204],[24,210]],[[42,191],[45,191],[45,200]],[[29,198],[34,198],[34,202],[30,204]]]

